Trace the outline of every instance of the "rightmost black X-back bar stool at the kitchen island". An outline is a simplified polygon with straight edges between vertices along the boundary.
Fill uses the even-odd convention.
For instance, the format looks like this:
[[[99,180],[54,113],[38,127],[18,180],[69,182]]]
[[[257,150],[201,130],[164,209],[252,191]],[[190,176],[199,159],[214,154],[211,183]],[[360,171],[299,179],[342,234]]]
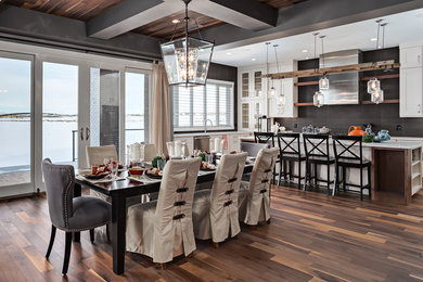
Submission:
[[[364,189],[369,190],[369,197],[371,198],[371,166],[372,163],[368,159],[364,159],[362,156],[362,137],[361,136],[333,136],[333,152],[335,153],[335,183],[333,189],[333,194],[337,184],[341,182],[337,180],[339,168],[342,168],[342,183],[343,189],[346,191],[347,187],[356,187],[360,189],[360,200],[362,201]],[[344,141],[344,142],[343,142]],[[349,141],[349,142],[348,142]],[[352,148],[358,144],[359,152],[358,154],[352,151]],[[337,149],[341,149],[341,152]],[[358,168],[360,169],[360,184],[347,183],[346,181],[346,170],[347,168]],[[363,185],[363,168],[368,169],[368,184]]]

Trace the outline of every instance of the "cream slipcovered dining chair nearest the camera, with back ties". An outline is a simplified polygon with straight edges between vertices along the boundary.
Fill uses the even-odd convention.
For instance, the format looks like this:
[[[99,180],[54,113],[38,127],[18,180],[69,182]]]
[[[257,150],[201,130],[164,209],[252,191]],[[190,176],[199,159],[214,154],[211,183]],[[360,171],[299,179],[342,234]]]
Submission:
[[[126,248],[166,264],[195,251],[192,202],[201,158],[170,159],[165,166],[158,200],[128,208]]]

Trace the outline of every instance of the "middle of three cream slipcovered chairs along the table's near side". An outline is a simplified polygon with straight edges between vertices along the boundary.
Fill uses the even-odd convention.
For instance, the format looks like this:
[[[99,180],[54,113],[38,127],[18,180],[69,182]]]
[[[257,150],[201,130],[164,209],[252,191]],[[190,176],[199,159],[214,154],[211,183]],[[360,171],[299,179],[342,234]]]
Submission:
[[[217,167],[211,190],[195,192],[193,205],[196,239],[218,243],[240,231],[238,193],[247,153],[223,155]]]

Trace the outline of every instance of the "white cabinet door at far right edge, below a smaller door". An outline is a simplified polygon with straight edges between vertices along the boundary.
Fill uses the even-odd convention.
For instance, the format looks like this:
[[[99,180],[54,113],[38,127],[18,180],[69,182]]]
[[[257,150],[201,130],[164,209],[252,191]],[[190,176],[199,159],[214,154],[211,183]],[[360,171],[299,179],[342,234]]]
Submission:
[[[423,117],[423,67],[400,68],[400,117]]]

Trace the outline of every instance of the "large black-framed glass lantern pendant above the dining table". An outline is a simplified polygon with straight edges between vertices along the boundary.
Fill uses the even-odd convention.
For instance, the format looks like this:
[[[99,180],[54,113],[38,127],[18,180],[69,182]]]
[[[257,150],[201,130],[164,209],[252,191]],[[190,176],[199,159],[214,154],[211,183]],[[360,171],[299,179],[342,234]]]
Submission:
[[[188,35],[188,4],[191,0],[182,1],[185,3],[185,35],[161,44],[167,79],[170,86],[204,86],[215,43]],[[198,35],[201,37],[200,30]]]

